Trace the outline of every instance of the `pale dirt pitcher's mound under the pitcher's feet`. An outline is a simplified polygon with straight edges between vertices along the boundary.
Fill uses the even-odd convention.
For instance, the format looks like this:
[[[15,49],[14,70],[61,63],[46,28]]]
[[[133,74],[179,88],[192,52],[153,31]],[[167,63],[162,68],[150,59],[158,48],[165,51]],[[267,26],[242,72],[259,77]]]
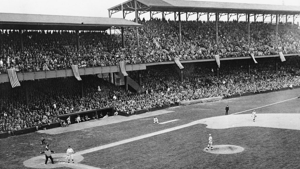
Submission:
[[[203,151],[213,153],[213,154],[234,154],[234,153],[244,151],[243,147],[233,146],[233,145],[216,145],[212,147],[213,150],[211,150],[211,148],[206,150],[207,149],[206,147],[205,149],[203,149]]]

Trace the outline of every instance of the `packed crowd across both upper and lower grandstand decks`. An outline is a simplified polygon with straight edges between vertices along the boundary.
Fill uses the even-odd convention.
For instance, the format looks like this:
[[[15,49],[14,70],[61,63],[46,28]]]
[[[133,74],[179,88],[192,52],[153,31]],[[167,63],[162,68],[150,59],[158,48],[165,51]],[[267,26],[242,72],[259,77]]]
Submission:
[[[79,33],[80,48],[76,48],[73,31],[24,31],[24,50],[20,46],[20,33],[0,30],[0,72],[7,69],[18,72],[51,71],[79,68],[114,66],[119,61],[126,64],[155,63],[174,60],[210,59],[214,55],[244,57],[300,53],[298,24],[250,24],[250,46],[247,41],[248,23],[219,22],[218,45],[214,22],[182,21],[182,45],[179,45],[177,21],[152,18],[140,20],[140,46],[136,45],[136,30],[125,31],[125,48],[120,34],[103,31]],[[113,107],[134,115],[141,109],[171,105],[185,100],[221,96],[223,98],[244,93],[280,90],[290,85],[300,85],[299,57],[262,58],[258,64],[248,59],[227,60],[216,75],[216,63],[184,63],[183,81],[176,64],[147,66],[141,71],[144,93],[126,91],[124,88],[96,75],[82,76],[81,82],[73,77],[22,81],[21,87],[11,88],[0,84],[0,132],[15,131],[42,124],[58,122],[57,115],[85,110]],[[251,66],[250,74],[248,66]],[[276,66],[278,68],[276,68]],[[138,81],[138,72],[128,72]],[[27,91],[24,90],[26,86]],[[98,90],[98,89],[101,90]],[[29,103],[26,103],[28,92]],[[116,96],[116,97],[113,97]]]

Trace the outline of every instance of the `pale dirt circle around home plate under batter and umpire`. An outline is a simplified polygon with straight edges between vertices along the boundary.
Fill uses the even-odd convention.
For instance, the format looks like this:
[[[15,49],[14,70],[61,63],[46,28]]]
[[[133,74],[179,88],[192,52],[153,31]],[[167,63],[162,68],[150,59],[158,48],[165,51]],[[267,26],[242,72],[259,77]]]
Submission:
[[[66,154],[65,153],[54,153],[51,154],[54,164],[51,164],[51,160],[48,159],[47,165],[45,165],[46,157],[45,155],[40,155],[37,157],[30,158],[26,161],[23,162],[23,164],[26,167],[30,168],[58,168],[58,167],[63,167],[63,166],[69,166],[70,168],[74,168],[71,165],[74,165],[70,160],[70,163],[67,163],[68,159],[66,159]],[[74,154],[74,162],[75,165],[83,160],[82,155],[76,155]],[[64,162],[66,161],[66,162]]]

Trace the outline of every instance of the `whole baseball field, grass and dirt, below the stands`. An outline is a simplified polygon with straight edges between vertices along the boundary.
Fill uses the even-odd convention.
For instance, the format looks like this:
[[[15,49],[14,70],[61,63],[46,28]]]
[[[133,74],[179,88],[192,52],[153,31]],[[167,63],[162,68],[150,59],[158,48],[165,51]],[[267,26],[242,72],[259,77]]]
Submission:
[[[278,91],[9,137],[0,140],[0,168],[300,168],[299,94]],[[208,134],[214,150],[206,150]],[[44,165],[43,135],[55,164]],[[74,164],[64,162],[68,146]]]

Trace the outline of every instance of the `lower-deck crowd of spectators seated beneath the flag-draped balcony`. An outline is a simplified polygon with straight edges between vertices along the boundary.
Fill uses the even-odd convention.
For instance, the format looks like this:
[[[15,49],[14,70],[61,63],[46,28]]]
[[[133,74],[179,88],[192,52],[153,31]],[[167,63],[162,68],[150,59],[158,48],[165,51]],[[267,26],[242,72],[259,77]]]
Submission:
[[[258,64],[250,64],[250,74],[249,60],[223,61],[219,78],[214,62],[188,63],[188,66],[184,65],[183,81],[175,64],[147,66],[141,71],[146,89],[143,94],[125,91],[96,75],[82,76],[82,82],[73,77],[23,81],[21,87],[13,89],[9,83],[3,83],[0,88],[0,132],[51,124],[60,121],[55,118],[57,115],[104,107],[134,114],[140,109],[185,100],[279,90],[291,84],[299,86],[299,59],[289,57],[286,60],[279,62],[276,71],[274,59],[258,59]],[[128,73],[137,81],[137,71]]]

